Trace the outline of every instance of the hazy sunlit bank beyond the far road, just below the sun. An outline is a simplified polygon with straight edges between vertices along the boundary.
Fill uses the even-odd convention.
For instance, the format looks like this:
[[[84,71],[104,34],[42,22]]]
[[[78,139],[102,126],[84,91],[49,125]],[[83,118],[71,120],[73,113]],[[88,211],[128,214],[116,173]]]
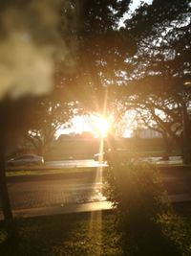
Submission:
[[[57,140],[45,158],[47,160],[93,158],[94,154],[99,151],[99,145],[100,140],[96,138]],[[127,155],[129,153],[161,155],[165,152],[162,138],[117,138],[116,146],[118,151]],[[172,151],[178,150],[172,146]]]

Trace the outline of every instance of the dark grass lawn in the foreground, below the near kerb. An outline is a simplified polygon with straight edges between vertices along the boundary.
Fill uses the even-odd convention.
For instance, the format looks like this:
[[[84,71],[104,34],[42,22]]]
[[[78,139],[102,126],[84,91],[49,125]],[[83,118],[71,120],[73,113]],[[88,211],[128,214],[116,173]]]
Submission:
[[[188,229],[191,229],[190,206],[191,203],[175,206],[176,212]],[[4,224],[0,222],[1,256],[133,256],[129,251],[124,252],[120,246],[112,211],[18,219],[15,226],[17,236],[13,242],[8,242]],[[188,242],[190,243],[189,237]],[[186,246],[191,247],[191,244]]]

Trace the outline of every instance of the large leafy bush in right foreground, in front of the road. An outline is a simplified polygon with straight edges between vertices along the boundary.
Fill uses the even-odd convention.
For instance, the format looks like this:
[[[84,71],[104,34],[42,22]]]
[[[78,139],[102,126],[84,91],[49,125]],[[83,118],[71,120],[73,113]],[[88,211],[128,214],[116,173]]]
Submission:
[[[157,168],[144,162],[116,163],[110,165],[107,180],[121,243],[130,253],[125,255],[183,255],[182,240],[170,234],[179,224]]]

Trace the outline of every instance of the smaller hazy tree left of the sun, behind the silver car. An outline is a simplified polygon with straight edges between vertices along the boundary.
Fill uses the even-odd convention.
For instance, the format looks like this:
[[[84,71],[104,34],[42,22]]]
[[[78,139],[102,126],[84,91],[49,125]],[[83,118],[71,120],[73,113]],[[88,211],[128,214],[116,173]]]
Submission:
[[[74,107],[74,103],[58,101],[55,95],[37,101],[32,124],[25,135],[25,141],[32,144],[37,154],[44,155],[50,149],[57,129],[69,126]]]

